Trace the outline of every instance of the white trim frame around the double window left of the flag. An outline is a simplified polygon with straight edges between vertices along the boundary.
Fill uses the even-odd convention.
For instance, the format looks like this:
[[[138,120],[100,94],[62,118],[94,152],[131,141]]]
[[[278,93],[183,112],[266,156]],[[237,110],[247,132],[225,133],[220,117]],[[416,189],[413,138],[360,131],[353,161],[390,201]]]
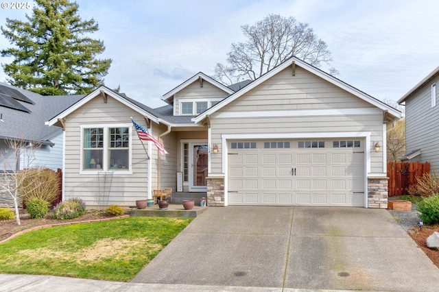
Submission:
[[[92,170],[84,170],[82,163],[82,155],[83,145],[84,145],[84,129],[88,129],[91,127],[102,127],[104,129],[104,147],[102,153],[102,169],[92,171]],[[108,129],[111,127],[128,127],[128,134],[130,135],[129,148],[128,148],[128,169],[127,170],[115,170],[108,166]],[[105,124],[81,124],[80,125],[80,174],[85,175],[97,175],[99,172],[103,171],[112,171],[113,175],[126,175],[132,174],[132,123],[105,123]]]

